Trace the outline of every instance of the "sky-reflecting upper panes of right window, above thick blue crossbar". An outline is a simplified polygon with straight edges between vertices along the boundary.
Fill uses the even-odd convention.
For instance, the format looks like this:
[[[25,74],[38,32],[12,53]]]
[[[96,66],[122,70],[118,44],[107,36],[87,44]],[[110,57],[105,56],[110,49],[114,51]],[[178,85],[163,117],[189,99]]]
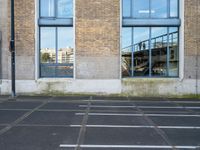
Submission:
[[[178,17],[178,0],[123,0],[123,17]]]

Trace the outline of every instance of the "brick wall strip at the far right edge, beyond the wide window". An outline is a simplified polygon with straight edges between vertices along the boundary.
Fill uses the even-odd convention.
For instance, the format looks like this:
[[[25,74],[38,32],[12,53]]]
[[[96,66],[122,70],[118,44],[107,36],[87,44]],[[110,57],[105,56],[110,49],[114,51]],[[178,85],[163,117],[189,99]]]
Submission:
[[[200,79],[200,0],[185,0],[185,78]]]

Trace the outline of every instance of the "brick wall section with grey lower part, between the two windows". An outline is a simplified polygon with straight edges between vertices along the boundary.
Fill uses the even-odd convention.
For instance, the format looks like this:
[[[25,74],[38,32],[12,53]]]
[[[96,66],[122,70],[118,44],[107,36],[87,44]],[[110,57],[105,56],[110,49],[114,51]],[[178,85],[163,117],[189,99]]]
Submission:
[[[119,79],[120,1],[76,0],[76,77]]]

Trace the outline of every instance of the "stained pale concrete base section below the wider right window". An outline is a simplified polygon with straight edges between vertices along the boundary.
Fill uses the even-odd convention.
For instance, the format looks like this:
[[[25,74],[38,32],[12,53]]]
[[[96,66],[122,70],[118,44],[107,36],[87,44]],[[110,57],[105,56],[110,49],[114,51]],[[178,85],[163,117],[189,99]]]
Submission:
[[[196,94],[200,80],[195,79],[123,79],[122,93],[132,96],[177,96]]]

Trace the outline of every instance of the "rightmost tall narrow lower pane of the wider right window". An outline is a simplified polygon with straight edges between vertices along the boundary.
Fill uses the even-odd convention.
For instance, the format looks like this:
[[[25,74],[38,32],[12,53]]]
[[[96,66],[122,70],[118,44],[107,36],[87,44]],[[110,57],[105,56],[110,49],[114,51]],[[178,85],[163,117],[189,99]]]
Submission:
[[[169,76],[178,76],[179,51],[178,51],[178,28],[169,28]]]

